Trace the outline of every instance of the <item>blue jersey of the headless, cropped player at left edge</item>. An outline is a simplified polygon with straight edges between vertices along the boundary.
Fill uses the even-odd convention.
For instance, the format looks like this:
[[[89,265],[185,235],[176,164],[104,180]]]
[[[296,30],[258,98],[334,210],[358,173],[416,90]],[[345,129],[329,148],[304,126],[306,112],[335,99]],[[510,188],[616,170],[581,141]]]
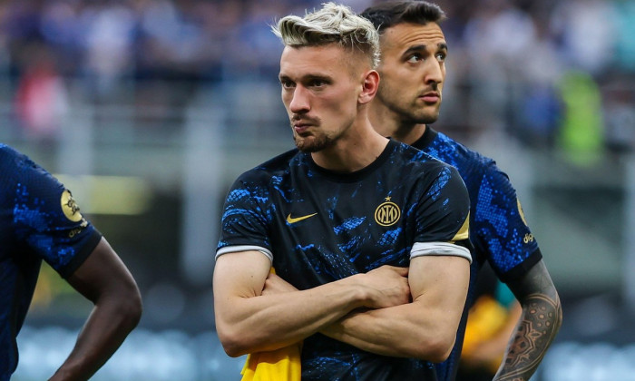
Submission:
[[[17,366],[24,323],[44,259],[73,274],[101,234],[83,219],[69,190],[24,154],[0,144],[0,380]]]

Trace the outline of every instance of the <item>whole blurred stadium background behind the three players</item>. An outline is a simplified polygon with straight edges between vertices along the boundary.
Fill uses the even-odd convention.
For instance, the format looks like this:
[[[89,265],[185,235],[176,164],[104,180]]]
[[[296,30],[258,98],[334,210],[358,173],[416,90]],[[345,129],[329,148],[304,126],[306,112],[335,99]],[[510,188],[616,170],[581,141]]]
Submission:
[[[140,327],[93,379],[239,379],[214,333],[220,207],[293,146],[269,24],[319,3],[0,2],[0,142],[73,190],[142,289]],[[635,380],[635,1],[437,4],[450,58],[434,127],[507,171],[561,292],[532,380]],[[89,308],[44,266],[14,380],[49,376]]]

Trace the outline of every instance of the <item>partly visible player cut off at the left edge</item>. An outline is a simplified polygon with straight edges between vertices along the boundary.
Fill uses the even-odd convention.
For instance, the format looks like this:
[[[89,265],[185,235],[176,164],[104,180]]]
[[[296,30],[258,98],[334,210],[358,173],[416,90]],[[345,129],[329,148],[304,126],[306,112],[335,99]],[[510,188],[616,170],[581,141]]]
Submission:
[[[70,190],[23,153],[0,144],[0,380],[15,372],[15,341],[44,259],[94,304],[75,346],[50,380],[87,380],[142,315],[130,271],[83,218]]]

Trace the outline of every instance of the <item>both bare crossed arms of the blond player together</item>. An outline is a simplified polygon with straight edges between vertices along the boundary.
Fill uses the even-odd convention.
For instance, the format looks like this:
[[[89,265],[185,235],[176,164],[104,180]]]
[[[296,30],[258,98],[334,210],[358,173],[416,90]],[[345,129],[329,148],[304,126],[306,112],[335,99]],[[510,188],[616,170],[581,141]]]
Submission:
[[[317,332],[376,354],[431,361],[454,345],[469,278],[463,258],[417,257],[409,270],[383,266],[299,291],[269,268],[255,251],[217,261],[217,329],[230,356],[286,347]]]

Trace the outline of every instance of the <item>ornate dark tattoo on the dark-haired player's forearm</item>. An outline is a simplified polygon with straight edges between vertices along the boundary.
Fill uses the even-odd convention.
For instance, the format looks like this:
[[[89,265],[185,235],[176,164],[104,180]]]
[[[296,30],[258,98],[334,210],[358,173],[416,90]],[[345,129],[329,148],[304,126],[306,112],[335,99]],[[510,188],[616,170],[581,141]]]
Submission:
[[[533,294],[527,298],[523,316],[504,357],[496,380],[526,381],[540,364],[562,321],[557,296]]]

